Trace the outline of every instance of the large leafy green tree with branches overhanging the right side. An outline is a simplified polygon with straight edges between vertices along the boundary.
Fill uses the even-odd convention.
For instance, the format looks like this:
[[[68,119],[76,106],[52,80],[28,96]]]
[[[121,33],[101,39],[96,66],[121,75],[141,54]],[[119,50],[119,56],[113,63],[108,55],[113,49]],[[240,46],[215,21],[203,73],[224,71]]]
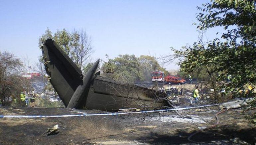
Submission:
[[[224,41],[216,38],[209,41],[206,47],[198,42],[186,50],[174,50],[177,55],[184,57],[180,63],[181,69],[190,72],[205,66],[216,81],[231,75],[231,83],[223,83],[221,88],[225,88],[226,92],[231,91],[234,97],[255,97],[254,91],[247,90],[246,86],[255,89],[256,84],[256,1],[211,0],[198,9],[201,12],[196,17],[199,21],[197,28],[221,26],[227,32],[221,36]],[[256,101],[252,105],[255,106]]]

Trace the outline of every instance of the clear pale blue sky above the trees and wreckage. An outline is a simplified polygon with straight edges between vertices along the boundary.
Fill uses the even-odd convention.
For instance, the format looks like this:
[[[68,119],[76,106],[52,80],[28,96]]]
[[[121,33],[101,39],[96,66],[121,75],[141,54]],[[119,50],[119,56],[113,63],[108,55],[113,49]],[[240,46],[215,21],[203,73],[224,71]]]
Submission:
[[[208,0],[0,0],[0,51],[29,57],[41,55],[38,39],[49,27],[86,30],[94,54],[106,60],[118,54],[171,53],[197,40],[196,6]],[[208,39],[221,29],[208,30]],[[165,66],[178,69],[174,63]]]

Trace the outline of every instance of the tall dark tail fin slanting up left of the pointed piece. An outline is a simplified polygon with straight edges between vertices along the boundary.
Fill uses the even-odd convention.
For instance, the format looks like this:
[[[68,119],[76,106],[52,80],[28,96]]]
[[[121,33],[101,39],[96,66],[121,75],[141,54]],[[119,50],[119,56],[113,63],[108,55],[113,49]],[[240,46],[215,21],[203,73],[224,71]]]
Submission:
[[[67,107],[76,88],[82,83],[82,71],[52,39],[45,41],[42,53],[50,82]]]

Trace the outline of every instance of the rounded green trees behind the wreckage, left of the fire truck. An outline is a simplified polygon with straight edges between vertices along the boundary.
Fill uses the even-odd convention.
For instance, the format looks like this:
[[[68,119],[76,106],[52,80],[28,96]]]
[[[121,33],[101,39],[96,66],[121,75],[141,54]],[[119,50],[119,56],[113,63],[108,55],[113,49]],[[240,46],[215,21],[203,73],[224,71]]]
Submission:
[[[157,62],[155,57],[148,55],[141,55],[136,57],[135,55],[118,55],[114,59],[103,64],[102,69],[105,75],[111,79],[119,82],[133,84],[135,82],[146,81],[151,79],[151,72],[163,70]]]

